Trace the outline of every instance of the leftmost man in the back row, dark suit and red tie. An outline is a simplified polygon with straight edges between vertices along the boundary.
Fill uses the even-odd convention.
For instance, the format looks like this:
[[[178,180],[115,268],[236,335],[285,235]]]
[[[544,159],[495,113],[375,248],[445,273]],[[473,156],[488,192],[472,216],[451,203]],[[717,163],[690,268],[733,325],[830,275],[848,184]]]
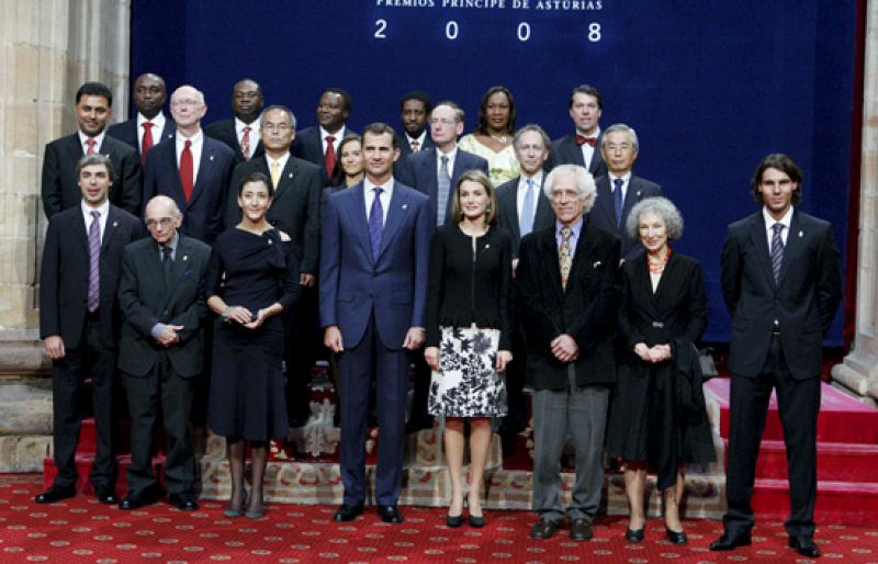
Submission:
[[[151,72],[140,75],[134,82],[133,95],[137,116],[113,124],[106,129],[106,135],[110,137],[137,149],[140,155],[140,166],[146,163],[146,153],[154,145],[171,138],[177,128],[173,121],[168,120],[161,112],[167,98],[165,79]]]

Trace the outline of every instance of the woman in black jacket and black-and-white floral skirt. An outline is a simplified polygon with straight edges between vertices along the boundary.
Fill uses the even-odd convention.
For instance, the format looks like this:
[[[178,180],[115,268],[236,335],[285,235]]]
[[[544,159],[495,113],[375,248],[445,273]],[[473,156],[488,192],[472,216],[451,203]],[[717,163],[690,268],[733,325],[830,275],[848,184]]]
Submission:
[[[430,250],[427,348],[434,370],[428,410],[444,416],[444,445],[451,475],[446,522],[460,527],[463,512],[464,421],[470,421],[469,523],[485,524],[482,481],[491,444],[491,418],[506,415],[500,373],[510,352],[513,239],[496,226],[497,198],[485,173],[461,174],[451,213]]]

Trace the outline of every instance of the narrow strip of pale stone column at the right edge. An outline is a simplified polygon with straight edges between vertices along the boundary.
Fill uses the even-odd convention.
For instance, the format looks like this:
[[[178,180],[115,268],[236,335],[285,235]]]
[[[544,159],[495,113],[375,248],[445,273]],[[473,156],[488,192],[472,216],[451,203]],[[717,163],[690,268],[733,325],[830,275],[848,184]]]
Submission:
[[[853,351],[833,366],[832,376],[878,399],[878,0],[868,2],[865,55],[856,336]]]

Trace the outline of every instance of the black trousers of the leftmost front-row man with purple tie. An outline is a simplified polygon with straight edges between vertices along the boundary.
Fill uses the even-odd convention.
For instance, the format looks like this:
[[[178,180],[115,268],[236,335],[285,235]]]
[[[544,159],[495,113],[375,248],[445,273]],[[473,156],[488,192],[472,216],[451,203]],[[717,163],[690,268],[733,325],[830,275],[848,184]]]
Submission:
[[[95,488],[115,486],[119,472],[113,456],[115,368],[116,350],[101,343],[98,314],[89,314],[79,346],[68,348],[63,359],[52,363],[52,439],[58,469],[56,486],[72,486],[77,481],[76,447],[82,424],[81,396],[89,376],[97,432],[97,453],[89,482]]]

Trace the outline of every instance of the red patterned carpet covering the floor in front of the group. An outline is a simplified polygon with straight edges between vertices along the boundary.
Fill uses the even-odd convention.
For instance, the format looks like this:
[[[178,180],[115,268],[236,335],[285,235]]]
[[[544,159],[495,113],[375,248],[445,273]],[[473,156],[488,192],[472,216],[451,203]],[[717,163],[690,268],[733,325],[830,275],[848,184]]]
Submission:
[[[195,512],[164,503],[121,511],[85,496],[41,506],[33,503],[40,482],[38,475],[0,477],[0,563],[809,562],[786,548],[779,522],[759,523],[750,548],[712,553],[707,546],[721,526],[709,520],[687,521],[690,544],[682,548],[664,541],[658,520],[645,542],[629,544],[621,518],[598,519],[590,542],[573,542],[566,531],[538,542],[528,538],[533,516],[526,511],[488,511],[481,530],[449,529],[442,509],[414,507],[403,508],[402,526],[384,524],[371,511],[337,524],[334,507],[277,504],[261,520],[227,519],[217,501]],[[817,540],[826,560],[878,563],[878,529],[823,526]]]

